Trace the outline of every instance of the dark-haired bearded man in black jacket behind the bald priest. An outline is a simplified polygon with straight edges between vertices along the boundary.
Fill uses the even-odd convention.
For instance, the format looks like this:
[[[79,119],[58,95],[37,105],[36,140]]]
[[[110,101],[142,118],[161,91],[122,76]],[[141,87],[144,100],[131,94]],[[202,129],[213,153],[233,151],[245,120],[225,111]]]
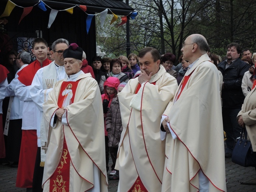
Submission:
[[[227,49],[227,59],[219,63],[218,68],[223,75],[222,119],[224,131],[227,134],[225,157],[231,157],[235,139],[240,136],[241,131],[236,116],[245,99],[241,84],[243,74],[249,70],[249,65],[239,58],[242,52],[239,44],[231,43]]]

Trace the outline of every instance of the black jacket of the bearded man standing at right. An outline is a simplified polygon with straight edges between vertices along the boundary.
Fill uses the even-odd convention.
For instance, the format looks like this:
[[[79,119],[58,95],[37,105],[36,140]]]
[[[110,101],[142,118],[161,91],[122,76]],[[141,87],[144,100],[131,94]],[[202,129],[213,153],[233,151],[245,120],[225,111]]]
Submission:
[[[240,58],[226,68],[226,61],[219,63],[218,68],[223,75],[222,104],[223,108],[240,109],[245,96],[242,92],[243,74],[249,70],[249,65]],[[226,68],[226,69],[225,69]]]

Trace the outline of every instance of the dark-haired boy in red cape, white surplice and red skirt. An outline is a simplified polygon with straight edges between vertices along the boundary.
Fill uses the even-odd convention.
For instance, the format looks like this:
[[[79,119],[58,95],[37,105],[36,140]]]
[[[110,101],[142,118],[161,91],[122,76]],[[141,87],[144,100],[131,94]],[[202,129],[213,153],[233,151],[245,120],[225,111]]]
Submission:
[[[47,59],[48,44],[43,38],[36,38],[33,41],[32,48],[36,60],[18,72],[18,83],[14,90],[15,95],[24,101],[21,149],[16,186],[30,189],[32,188],[35,156],[37,154],[37,127],[35,125],[37,124],[37,115],[40,114],[40,111],[31,99],[29,89],[38,69],[51,63]]]

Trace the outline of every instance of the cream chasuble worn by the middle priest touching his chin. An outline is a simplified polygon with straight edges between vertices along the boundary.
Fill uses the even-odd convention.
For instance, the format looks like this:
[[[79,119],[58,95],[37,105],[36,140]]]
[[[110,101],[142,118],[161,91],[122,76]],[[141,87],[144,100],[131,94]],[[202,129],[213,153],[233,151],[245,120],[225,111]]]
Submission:
[[[159,134],[161,114],[173,99],[177,81],[160,65],[135,94],[138,84],[138,78],[130,79],[118,93],[124,127],[116,160],[120,192],[141,190],[138,177],[149,192],[159,191],[162,185],[165,143]]]

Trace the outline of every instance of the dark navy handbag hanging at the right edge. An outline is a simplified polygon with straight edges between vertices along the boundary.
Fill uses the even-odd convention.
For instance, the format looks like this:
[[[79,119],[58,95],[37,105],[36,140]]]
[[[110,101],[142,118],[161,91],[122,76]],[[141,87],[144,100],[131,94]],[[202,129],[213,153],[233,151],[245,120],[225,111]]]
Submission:
[[[235,164],[243,167],[256,167],[256,152],[252,151],[252,145],[247,140],[247,131],[245,128],[242,128],[241,136],[235,143],[231,160]]]

